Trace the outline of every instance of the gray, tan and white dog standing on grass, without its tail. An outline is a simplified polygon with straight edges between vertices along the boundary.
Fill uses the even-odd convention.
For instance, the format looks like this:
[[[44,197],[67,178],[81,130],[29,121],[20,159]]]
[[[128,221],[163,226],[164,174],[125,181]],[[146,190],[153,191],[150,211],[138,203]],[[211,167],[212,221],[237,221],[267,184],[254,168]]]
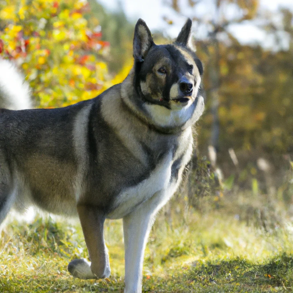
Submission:
[[[149,230],[180,184],[204,110],[190,30],[188,19],[173,44],[155,45],[139,19],[122,84],[65,108],[0,109],[0,222],[13,206],[77,214],[91,263],[72,260],[74,277],[110,275],[103,225],[122,218],[125,292],[142,291]]]

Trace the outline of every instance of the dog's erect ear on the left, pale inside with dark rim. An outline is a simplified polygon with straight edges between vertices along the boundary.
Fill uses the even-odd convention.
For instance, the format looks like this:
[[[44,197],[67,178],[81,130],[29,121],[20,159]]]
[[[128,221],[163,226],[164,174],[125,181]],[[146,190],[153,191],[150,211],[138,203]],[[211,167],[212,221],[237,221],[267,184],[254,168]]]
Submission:
[[[143,62],[145,54],[154,45],[154,40],[146,23],[139,18],[134,28],[133,57],[136,61]]]

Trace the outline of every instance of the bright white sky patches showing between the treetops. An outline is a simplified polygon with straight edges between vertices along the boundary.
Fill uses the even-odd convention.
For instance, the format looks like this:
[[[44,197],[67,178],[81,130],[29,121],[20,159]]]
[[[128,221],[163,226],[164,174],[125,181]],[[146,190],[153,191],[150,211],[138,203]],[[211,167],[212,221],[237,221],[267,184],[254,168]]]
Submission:
[[[115,10],[118,7],[119,0],[98,0],[103,6],[109,10]],[[127,17],[136,21],[138,18],[144,19],[151,31],[161,30],[165,35],[175,38],[180,31],[180,28],[185,23],[186,18],[178,16],[174,11],[164,4],[168,0],[122,0],[121,4]],[[196,6],[196,12],[186,6],[184,10],[186,15],[190,12],[190,15],[199,16],[201,19],[208,19],[213,14],[212,1],[214,0],[202,0],[200,4]],[[181,7],[184,8],[184,3],[187,1],[181,0]],[[293,11],[293,0],[260,0],[260,11],[269,10],[277,11],[280,7],[288,7]],[[239,13],[239,10],[232,5],[225,8],[225,15],[231,18],[235,17]],[[174,21],[173,25],[167,25],[163,21],[163,16],[171,17]],[[272,36],[266,34],[263,30],[258,28],[255,23],[244,23],[241,25],[233,25],[229,27],[229,31],[241,42],[242,44],[260,43],[264,47],[274,47],[274,39]],[[198,38],[204,38],[206,31],[200,27],[193,27],[193,33]],[[286,49],[289,46],[287,42],[286,34],[281,33],[280,38],[283,40],[281,47]]]

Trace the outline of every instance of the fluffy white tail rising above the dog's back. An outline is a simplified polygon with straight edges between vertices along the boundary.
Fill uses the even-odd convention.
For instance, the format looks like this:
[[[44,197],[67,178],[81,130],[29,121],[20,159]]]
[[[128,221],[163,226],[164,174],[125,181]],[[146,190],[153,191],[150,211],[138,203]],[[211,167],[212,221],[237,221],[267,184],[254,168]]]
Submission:
[[[8,60],[0,59],[0,108],[33,108],[30,87],[22,74]]]

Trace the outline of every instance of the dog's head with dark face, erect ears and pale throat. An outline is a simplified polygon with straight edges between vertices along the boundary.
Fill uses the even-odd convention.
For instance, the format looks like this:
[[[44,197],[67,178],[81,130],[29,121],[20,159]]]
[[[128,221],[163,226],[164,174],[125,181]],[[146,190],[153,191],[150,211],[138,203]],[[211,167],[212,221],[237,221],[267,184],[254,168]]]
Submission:
[[[203,67],[188,46],[192,21],[187,20],[176,41],[156,45],[139,19],[133,39],[134,101],[155,127],[172,130],[194,123],[203,112],[200,94]]]

